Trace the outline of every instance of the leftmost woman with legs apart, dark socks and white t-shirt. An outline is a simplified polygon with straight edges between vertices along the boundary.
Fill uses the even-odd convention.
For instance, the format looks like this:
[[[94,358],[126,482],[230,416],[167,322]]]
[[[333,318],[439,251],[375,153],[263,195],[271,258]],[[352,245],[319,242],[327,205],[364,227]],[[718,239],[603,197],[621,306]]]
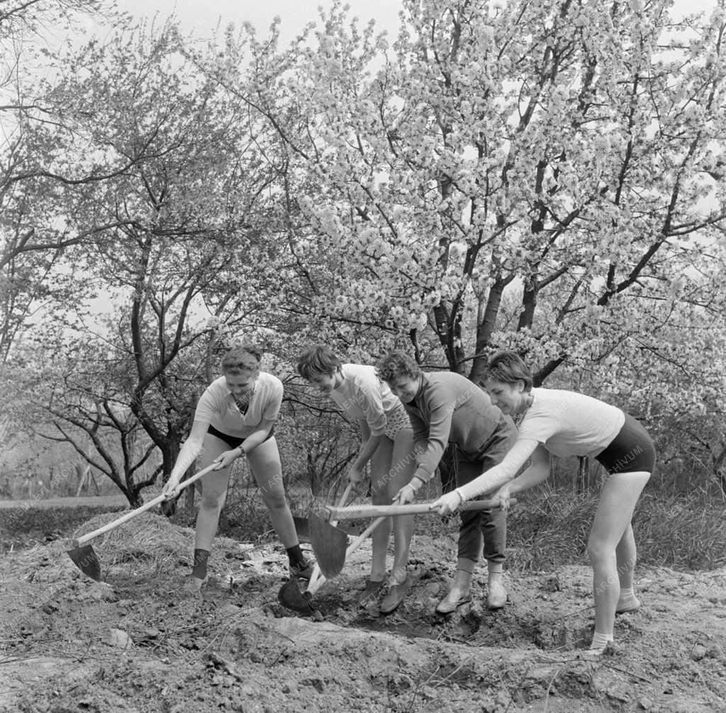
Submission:
[[[293,515],[282,484],[282,465],[272,435],[282,404],[282,382],[260,371],[262,352],[246,344],[222,359],[223,375],[213,381],[197,403],[189,438],[179,451],[164,487],[175,497],[181,476],[200,456],[200,466],[217,463],[201,478],[202,502],[197,513],[194,564],[185,590],[198,592],[207,577],[207,560],[217,531],[219,513],[227,497],[229,466],[245,456],[259,486],[272,526],[287,550],[290,574],[307,577],[311,564],[300,549]]]

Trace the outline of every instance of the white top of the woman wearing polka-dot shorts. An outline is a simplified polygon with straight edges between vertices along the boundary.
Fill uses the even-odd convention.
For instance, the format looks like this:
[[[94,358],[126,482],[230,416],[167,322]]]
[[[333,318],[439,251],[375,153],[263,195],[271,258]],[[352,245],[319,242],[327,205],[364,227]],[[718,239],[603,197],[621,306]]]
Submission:
[[[349,418],[365,420],[372,436],[382,436],[388,415],[403,410],[398,396],[378,378],[375,367],[343,364],[343,383],[330,392],[330,398]]]

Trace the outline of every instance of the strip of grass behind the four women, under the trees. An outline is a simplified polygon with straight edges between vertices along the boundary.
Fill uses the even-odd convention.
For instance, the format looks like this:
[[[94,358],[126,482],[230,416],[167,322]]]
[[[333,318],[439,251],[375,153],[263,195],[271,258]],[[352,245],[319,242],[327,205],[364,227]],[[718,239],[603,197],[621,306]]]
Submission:
[[[276,539],[258,492],[250,492],[248,496],[228,502],[222,510],[219,535],[239,542]],[[431,492],[423,494],[425,500],[436,497],[433,486]],[[295,502],[293,510],[306,515],[306,505],[307,502]],[[542,571],[566,564],[587,564],[587,539],[596,508],[597,494],[576,495],[552,490],[547,485],[520,494],[518,504],[507,519],[507,568]],[[22,534],[38,538],[60,532],[67,536],[99,513],[123,509],[118,505],[82,505],[3,510],[2,544],[7,549],[10,541]],[[171,522],[193,528],[196,512],[196,508],[179,508]],[[370,521],[349,524],[363,529]],[[416,518],[416,532],[433,537],[446,534],[455,539],[458,527],[457,517]],[[637,504],[633,529],[638,561],[643,565],[680,570],[726,566],[726,503],[720,500],[709,500],[700,493],[688,497],[646,493]]]

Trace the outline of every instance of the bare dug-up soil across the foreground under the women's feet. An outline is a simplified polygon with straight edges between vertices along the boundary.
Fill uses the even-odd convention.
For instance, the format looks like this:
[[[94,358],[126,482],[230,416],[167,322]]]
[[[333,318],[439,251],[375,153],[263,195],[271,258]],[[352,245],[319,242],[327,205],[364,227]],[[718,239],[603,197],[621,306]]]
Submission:
[[[94,540],[102,583],[60,541],[5,556],[1,712],[726,711],[726,569],[639,569],[640,610],[619,616],[616,645],[589,661],[587,566],[510,572],[510,601],[494,612],[480,579],[473,605],[439,616],[454,540],[416,534],[393,614],[356,605],[366,545],[300,616],[277,600],[287,570],[273,542],[216,539],[203,597],[185,595],[192,531],[162,520],[117,532],[138,543],[153,526],[171,557]]]

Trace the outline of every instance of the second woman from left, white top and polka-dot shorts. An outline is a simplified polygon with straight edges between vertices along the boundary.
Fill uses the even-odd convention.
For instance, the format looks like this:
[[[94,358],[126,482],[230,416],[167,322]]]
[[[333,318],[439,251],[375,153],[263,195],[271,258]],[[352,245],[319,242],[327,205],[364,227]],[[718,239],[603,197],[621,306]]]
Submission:
[[[358,422],[362,446],[348,470],[348,481],[356,489],[363,479],[363,469],[370,461],[371,500],[374,505],[390,505],[396,493],[406,485],[416,467],[413,457],[411,422],[398,396],[378,378],[375,367],[343,364],[330,349],[319,345],[303,351],[298,372],[349,418]],[[386,551],[393,531],[393,569],[386,582]],[[367,606],[378,598],[388,584],[380,602],[382,614],[389,614],[404,600],[407,589],[407,565],[413,534],[413,516],[386,518],[373,531],[370,579],[359,598]]]

